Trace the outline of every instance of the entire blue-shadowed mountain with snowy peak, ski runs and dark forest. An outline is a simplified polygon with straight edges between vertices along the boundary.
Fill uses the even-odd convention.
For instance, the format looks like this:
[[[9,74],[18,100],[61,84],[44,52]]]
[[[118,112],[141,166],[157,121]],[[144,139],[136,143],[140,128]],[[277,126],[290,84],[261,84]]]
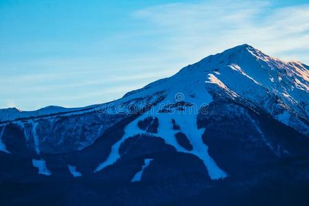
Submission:
[[[0,205],[308,205],[308,79],[240,45],[114,102],[0,110]]]

